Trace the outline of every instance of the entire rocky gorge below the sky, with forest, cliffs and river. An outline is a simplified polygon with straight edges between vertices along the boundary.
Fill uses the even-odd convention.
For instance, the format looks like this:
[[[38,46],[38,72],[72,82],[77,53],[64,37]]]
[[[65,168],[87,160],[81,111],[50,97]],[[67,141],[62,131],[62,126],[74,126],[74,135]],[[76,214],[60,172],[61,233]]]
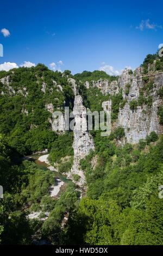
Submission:
[[[120,76],[43,64],[0,71],[2,243],[162,244],[162,63],[149,54]],[[108,136],[88,129],[88,111],[111,115]],[[46,168],[25,157],[41,152]]]

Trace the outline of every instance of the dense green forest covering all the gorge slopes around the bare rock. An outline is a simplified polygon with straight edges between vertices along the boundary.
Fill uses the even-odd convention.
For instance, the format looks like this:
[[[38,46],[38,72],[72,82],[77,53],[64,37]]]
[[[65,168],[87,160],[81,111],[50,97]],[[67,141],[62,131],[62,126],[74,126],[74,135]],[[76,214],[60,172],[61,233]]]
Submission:
[[[155,71],[163,71],[163,59],[158,53],[149,54],[142,64],[148,75],[148,64],[155,61]],[[132,72],[132,71],[130,71]],[[2,79],[8,77],[8,86]],[[86,89],[85,81],[99,79],[117,81],[103,71],[54,72],[45,65],[0,71],[0,185],[4,195],[0,199],[0,242],[2,244],[37,244],[41,240],[53,245],[162,245],[163,199],[159,186],[163,185],[163,135],[151,132],[138,144],[120,142],[124,129],[116,127],[109,137],[101,131],[91,131],[95,151],[80,161],[86,177],[85,194],[80,199],[76,184],[68,182],[58,198],[49,196],[54,173],[36,166],[24,156],[48,149],[49,160],[58,163],[59,172],[71,169],[73,132],[58,134],[52,131],[49,119],[53,111],[69,106],[73,109],[74,95],[68,78],[79,84],[84,105],[91,111],[101,111],[102,102],[112,101],[112,121],[124,106],[122,92],[103,95],[98,88]],[[140,94],[132,102],[132,111],[142,104],[149,108],[152,89],[145,79],[147,97]],[[43,85],[46,84],[46,87]],[[59,85],[59,86],[58,86]],[[128,92],[126,92],[128,93]],[[96,95],[96,97],[95,97]],[[162,88],[158,95],[163,97]],[[163,124],[163,108],[158,115]],[[69,156],[68,162],[62,159]],[[92,164],[95,162],[95,164]],[[30,220],[30,212],[41,216]],[[49,212],[48,218],[42,221]],[[62,220],[68,213],[68,221]]]

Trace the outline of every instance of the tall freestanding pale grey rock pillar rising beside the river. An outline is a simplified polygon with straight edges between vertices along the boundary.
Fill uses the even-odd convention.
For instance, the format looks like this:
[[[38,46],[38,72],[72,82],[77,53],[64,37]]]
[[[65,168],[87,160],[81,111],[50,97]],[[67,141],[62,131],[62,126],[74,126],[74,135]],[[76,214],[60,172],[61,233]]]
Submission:
[[[80,169],[80,160],[90,153],[90,150],[94,150],[95,146],[92,138],[87,131],[87,121],[86,121],[86,108],[83,106],[82,96],[77,95],[74,99],[73,107],[74,115],[74,159],[71,172],[68,173],[68,178],[73,178],[73,174],[78,174],[80,180],[79,185],[83,185],[85,182],[85,176],[83,171]]]

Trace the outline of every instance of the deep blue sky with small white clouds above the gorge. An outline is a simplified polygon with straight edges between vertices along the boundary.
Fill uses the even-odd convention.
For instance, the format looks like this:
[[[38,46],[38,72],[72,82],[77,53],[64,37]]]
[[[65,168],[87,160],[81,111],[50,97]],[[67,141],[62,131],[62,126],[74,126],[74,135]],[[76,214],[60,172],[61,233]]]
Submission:
[[[5,0],[0,30],[10,34],[0,33],[0,69],[4,62],[43,63],[72,74],[134,69],[163,43],[162,7],[161,1],[139,0]]]

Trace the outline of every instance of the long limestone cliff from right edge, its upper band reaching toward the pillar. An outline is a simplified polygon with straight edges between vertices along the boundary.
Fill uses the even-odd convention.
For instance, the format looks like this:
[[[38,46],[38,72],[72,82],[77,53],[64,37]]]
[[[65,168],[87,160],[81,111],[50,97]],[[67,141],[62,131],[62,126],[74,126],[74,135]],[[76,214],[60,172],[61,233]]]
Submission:
[[[149,83],[151,88],[146,89]],[[92,86],[99,88],[103,95],[116,95],[122,92],[124,104],[122,108],[119,108],[114,127],[122,126],[124,128],[128,143],[138,143],[140,139],[146,138],[151,131],[158,134],[163,132],[163,126],[159,124],[157,114],[159,106],[162,105],[162,100],[158,94],[162,85],[163,72],[151,71],[145,75],[141,67],[137,68],[134,73],[127,69],[124,70],[118,81],[99,80],[92,82]],[[131,109],[130,102],[133,100],[137,102],[140,96],[150,99],[151,105],[149,106],[149,103],[139,104],[138,102],[135,109]]]

